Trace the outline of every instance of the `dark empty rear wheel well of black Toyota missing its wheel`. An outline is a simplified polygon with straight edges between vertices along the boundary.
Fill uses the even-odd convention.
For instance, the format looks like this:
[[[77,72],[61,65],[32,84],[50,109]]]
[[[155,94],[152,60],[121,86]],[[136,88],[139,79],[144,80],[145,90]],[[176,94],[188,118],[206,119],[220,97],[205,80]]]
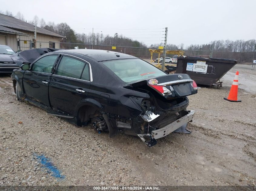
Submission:
[[[98,108],[90,105],[84,105],[79,108],[77,118],[78,126],[87,125],[91,118],[99,116]]]

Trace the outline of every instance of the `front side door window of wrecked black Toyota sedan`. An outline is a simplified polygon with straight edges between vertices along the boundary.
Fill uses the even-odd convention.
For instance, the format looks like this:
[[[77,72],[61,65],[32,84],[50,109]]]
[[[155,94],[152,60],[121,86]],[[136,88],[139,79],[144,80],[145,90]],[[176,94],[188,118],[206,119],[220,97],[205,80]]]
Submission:
[[[39,59],[33,64],[32,71],[51,73],[57,57],[58,55],[49,55]]]

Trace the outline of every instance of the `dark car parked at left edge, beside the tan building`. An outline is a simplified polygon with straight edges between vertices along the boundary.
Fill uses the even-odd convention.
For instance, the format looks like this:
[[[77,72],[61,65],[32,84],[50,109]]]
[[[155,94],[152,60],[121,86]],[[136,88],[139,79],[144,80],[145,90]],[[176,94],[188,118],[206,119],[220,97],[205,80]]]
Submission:
[[[15,51],[9,46],[0,45],[0,73],[12,73],[19,66],[12,60],[11,55]]]

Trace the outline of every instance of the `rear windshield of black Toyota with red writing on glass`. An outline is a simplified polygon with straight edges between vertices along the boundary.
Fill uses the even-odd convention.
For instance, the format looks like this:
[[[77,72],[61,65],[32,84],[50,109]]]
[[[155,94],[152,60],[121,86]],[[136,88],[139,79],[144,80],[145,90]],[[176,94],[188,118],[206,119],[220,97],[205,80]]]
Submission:
[[[111,60],[103,64],[127,83],[167,75],[141,59]]]

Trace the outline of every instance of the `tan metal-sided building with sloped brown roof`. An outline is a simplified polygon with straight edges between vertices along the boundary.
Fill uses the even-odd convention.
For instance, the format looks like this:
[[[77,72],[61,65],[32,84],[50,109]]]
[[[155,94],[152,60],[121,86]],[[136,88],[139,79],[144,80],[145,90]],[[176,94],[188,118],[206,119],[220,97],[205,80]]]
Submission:
[[[0,44],[15,51],[30,48],[59,48],[63,36],[25,21],[0,14]]]

